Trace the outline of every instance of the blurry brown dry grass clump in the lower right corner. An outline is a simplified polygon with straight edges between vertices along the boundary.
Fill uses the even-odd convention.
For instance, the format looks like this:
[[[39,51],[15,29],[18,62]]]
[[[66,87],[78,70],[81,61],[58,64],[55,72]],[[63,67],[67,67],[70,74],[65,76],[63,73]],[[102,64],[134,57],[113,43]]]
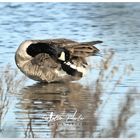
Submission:
[[[123,101],[120,102],[118,108],[117,116],[112,115],[112,119],[110,120],[108,127],[105,128],[100,137],[102,138],[119,138],[119,137],[127,137],[134,138],[136,137],[135,132],[131,132],[137,122],[133,122],[133,124],[129,124],[129,119],[131,119],[134,115],[139,112],[135,110],[135,102],[140,100],[140,95],[138,91],[133,88],[129,89],[126,92],[126,96]]]

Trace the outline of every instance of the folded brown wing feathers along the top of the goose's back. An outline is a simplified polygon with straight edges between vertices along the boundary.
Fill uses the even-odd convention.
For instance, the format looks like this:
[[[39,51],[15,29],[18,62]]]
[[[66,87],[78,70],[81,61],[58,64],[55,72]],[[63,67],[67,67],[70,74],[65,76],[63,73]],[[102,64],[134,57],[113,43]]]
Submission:
[[[39,42],[56,48],[65,48],[70,52],[71,56],[76,57],[88,57],[91,55],[96,55],[99,52],[99,49],[97,49],[94,45],[102,43],[102,41],[77,42],[65,38],[41,40]]]

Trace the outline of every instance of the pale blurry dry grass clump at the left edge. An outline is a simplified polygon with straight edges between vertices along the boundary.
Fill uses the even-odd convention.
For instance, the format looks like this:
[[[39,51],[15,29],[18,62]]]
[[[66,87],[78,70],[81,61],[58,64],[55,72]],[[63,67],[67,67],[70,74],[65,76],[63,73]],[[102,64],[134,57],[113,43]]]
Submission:
[[[25,76],[19,76],[18,71],[10,64],[0,72],[0,130],[2,131],[2,120],[9,109],[10,96],[16,94],[25,83]]]

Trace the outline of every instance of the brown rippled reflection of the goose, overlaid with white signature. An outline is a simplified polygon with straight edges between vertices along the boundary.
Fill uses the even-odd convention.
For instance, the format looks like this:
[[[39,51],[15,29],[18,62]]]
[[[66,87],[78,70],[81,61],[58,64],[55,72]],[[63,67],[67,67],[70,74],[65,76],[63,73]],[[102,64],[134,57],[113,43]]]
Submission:
[[[18,99],[17,126],[25,137],[92,137],[96,132],[99,100],[79,83],[37,83],[23,88]]]

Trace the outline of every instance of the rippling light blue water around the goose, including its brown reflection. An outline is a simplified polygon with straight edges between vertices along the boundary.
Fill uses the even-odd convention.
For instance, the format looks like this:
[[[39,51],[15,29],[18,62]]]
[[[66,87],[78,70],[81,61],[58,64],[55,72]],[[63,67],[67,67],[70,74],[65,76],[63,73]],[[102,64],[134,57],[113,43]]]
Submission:
[[[44,85],[28,80],[10,96],[0,136],[139,137],[139,13],[139,3],[0,3],[1,73],[7,63],[17,69],[14,54],[26,39],[102,40],[97,47],[103,56],[104,50],[115,52],[110,67],[119,67],[114,79],[102,81],[103,89],[96,83],[98,56],[89,59],[94,69],[78,82]],[[134,71],[127,76],[123,70],[130,64]],[[113,89],[121,75],[122,82]],[[51,113],[59,121],[49,123]],[[83,119],[75,118],[79,116]]]

